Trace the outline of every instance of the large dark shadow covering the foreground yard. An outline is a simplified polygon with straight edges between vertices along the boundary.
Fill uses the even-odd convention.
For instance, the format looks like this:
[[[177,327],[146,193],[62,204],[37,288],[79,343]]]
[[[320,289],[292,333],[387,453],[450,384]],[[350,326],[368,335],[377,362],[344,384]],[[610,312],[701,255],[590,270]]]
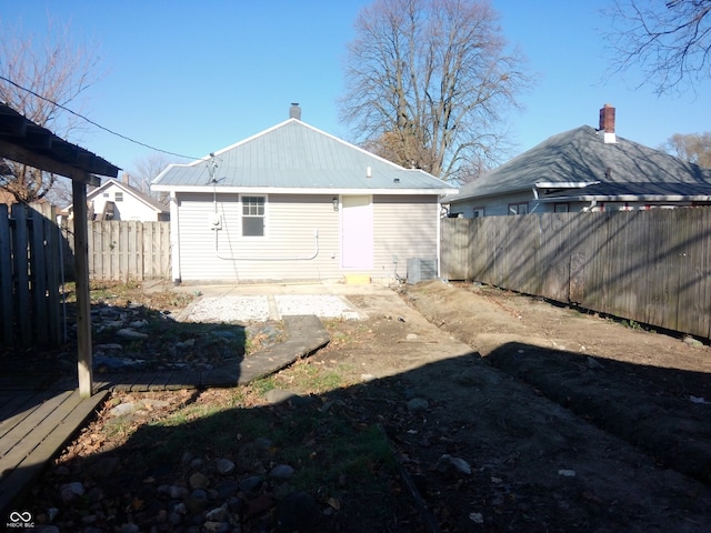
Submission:
[[[64,454],[24,505],[60,531],[708,531],[710,406],[689,394],[711,396],[705,374],[509,343],[299,389],[294,369],[347,351]]]

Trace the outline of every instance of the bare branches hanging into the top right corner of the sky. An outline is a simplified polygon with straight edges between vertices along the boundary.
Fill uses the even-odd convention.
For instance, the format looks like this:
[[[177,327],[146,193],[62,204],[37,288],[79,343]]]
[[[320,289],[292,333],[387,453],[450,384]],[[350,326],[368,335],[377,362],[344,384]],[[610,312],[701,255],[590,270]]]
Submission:
[[[711,0],[620,0],[604,14],[614,71],[639,64],[660,94],[711,78]]]

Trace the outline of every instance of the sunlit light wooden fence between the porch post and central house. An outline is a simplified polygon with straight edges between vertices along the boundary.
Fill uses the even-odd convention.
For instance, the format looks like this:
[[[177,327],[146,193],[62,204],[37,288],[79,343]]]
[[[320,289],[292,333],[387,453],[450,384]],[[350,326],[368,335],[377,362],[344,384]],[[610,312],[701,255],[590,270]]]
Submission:
[[[73,222],[64,224],[72,233]],[[152,280],[170,276],[170,222],[90,221],[91,280]],[[73,239],[69,239],[73,243]]]

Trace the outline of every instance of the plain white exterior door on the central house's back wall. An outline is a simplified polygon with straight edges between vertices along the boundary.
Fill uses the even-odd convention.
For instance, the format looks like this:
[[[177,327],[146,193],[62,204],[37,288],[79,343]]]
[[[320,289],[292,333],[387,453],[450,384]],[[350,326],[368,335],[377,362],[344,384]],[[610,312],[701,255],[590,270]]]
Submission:
[[[344,269],[373,268],[373,204],[370,195],[341,198],[341,258]]]

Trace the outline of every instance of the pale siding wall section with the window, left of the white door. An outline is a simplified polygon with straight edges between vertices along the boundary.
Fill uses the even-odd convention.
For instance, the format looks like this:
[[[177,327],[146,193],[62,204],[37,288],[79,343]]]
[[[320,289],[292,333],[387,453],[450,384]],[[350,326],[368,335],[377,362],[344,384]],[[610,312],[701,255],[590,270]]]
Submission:
[[[253,195],[253,194],[252,194]],[[332,197],[270,194],[266,237],[242,237],[238,194],[218,194],[222,229],[214,231],[211,194],[179,194],[180,276],[190,280],[324,280],[339,273],[339,213]],[[318,231],[319,253],[316,251]],[[216,240],[217,233],[217,240]]]

